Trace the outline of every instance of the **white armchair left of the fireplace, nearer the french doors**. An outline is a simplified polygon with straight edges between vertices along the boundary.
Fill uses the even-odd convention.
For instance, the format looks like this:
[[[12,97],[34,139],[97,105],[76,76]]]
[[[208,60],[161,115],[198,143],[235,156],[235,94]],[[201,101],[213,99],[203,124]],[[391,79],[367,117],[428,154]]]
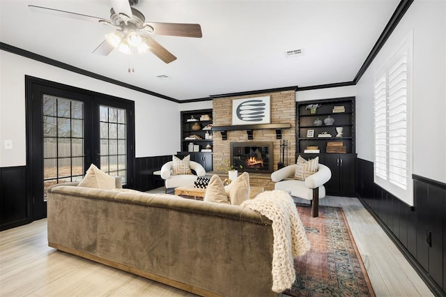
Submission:
[[[193,185],[194,181],[197,181],[197,176],[206,175],[206,170],[199,163],[190,161],[189,167],[194,170],[197,175],[194,174],[180,174],[173,175],[172,172],[173,161],[169,161],[161,167],[161,177],[164,179],[164,185],[167,189],[178,188],[183,185]]]

